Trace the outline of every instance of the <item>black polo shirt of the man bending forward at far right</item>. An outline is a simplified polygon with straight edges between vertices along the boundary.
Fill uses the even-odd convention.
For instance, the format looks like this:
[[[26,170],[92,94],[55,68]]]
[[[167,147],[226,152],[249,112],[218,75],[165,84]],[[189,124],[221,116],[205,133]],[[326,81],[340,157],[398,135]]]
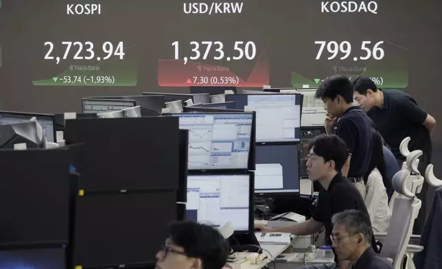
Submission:
[[[406,137],[410,137],[408,148],[431,152],[431,139],[428,129],[423,126],[427,113],[417,106],[416,101],[407,93],[398,90],[380,90],[384,93],[382,108],[374,107],[367,112],[373,119],[376,129],[380,132],[396,159],[404,161],[399,152],[399,145]]]

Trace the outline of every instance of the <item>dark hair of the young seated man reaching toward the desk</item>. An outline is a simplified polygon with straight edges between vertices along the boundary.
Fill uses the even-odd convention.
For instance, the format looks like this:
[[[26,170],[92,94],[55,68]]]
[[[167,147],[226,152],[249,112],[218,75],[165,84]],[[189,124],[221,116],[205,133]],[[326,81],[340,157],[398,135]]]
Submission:
[[[324,158],[324,161],[334,161],[337,172],[340,172],[349,156],[345,142],[335,134],[319,134],[310,142],[308,150]]]

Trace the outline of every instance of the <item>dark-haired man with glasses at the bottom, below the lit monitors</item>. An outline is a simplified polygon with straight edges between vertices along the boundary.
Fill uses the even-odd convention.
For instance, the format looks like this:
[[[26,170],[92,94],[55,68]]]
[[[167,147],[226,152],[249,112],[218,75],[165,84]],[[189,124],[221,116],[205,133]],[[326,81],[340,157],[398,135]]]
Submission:
[[[221,269],[228,255],[229,244],[216,229],[196,222],[176,222],[156,254],[155,268]]]

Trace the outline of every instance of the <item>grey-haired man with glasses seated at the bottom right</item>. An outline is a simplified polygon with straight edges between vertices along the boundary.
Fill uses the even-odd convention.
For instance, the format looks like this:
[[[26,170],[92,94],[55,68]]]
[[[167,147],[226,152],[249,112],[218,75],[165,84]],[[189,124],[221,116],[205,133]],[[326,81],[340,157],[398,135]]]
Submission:
[[[386,258],[371,248],[370,216],[360,210],[345,210],[332,218],[333,232],[330,236],[338,259],[350,261],[353,269],[392,269]]]

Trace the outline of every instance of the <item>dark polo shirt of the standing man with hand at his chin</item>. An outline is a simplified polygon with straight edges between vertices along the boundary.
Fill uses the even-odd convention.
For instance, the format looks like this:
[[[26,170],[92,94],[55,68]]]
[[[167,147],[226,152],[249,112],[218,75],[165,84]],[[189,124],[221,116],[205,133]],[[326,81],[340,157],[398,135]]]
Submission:
[[[373,142],[371,121],[359,106],[345,110],[336,128],[336,135],[347,144],[351,154],[348,177],[364,176],[369,169]]]

